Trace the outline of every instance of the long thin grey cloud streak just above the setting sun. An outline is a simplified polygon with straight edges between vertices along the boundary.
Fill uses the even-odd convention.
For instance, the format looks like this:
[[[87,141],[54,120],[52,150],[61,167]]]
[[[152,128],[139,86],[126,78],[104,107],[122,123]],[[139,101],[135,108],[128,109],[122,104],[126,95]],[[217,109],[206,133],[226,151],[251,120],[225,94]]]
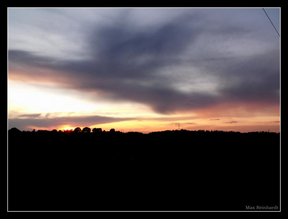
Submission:
[[[27,130],[28,126],[35,127],[59,127],[63,125],[74,126],[91,126],[104,123],[113,123],[120,121],[132,120],[134,118],[116,118],[116,117],[104,117],[104,116],[75,116],[75,117],[30,117],[30,118],[14,118],[8,119],[8,129],[16,127],[20,130]]]

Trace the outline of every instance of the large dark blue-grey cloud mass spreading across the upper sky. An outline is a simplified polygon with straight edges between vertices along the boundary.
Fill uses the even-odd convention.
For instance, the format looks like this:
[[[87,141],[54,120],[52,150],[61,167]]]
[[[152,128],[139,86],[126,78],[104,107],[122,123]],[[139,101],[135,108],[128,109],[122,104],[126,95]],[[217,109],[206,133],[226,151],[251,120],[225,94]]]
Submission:
[[[267,32],[261,10],[182,9],[169,16],[161,9],[155,25],[142,24],[135,11],[119,9],[111,18],[107,12],[111,22],[103,25],[83,23],[83,59],[10,49],[8,69],[163,114],[229,101],[279,102],[279,39]]]

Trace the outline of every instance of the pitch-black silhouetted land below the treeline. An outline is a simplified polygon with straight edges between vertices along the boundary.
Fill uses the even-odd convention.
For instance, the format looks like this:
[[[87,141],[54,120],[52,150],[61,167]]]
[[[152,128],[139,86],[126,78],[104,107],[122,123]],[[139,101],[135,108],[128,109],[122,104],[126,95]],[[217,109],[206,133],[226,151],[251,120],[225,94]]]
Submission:
[[[279,133],[8,131],[9,211],[246,206],[280,208]]]

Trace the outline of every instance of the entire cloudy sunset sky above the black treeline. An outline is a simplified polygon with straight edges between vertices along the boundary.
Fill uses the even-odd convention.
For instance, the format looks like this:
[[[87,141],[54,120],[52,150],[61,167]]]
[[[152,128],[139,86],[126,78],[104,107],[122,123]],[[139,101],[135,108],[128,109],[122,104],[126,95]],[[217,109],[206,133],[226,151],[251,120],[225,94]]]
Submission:
[[[265,8],[280,33],[280,8]],[[8,129],[280,131],[262,8],[8,8]]]

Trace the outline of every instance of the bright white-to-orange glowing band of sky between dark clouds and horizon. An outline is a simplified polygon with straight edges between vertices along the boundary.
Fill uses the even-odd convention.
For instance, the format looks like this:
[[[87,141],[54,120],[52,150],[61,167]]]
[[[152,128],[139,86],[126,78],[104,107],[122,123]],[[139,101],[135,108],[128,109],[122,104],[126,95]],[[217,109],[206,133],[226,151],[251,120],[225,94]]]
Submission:
[[[22,131],[90,127],[91,130],[102,128],[109,131],[113,128],[122,132],[149,133],[175,130],[180,123],[180,129],[186,130],[249,132],[270,129],[280,132],[280,105],[277,103],[227,102],[167,115],[157,113],[144,104],[89,100],[78,91],[68,92],[59,88],[50,92],[46,87],[33,84],[11,80],[8,80],[8,83],[8,120],[26,120],[25,126],[12,126]],[[103,119],[96,118],[94,123],[86,118],[93,116]],[[109,117],[111,119],[105,119]],[[51,122],[47,123],[49,120]]]

